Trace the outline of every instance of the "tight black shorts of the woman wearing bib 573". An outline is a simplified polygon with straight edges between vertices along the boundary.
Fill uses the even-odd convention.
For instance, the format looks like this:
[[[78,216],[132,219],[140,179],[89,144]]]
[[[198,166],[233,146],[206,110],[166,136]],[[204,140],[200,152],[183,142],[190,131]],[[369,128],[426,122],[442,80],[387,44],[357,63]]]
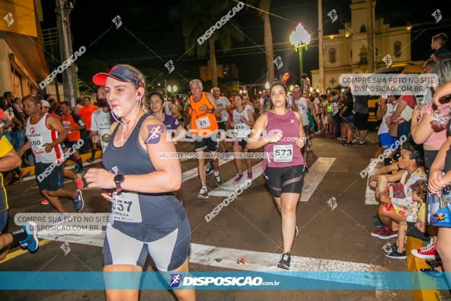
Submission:
[[[263,175],[273,197],[280,197],[282,193],[301,193],[304,165],[267,167]]]

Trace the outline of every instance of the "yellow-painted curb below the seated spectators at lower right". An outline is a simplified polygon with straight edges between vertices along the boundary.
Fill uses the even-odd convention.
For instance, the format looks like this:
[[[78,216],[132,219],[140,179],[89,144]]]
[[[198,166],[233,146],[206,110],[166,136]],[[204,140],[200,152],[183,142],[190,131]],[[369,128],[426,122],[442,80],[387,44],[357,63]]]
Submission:
[[[405,252],[407,255],[407,268],[408,271],[420,272],[421,268],[428,268],[429,266],[424,262],[424,259],[418,258],[412,255],[411,250],[420,249],[423,247],[423,242],[414,237],[407,236],[405,242]],[[421,287],[435,286],[435,280],[429,276],[415,276],[412,282],[416,282]],[[440,292],[438,290],[412,290],[415,301],[429,301],[429,300],[441,300]]]

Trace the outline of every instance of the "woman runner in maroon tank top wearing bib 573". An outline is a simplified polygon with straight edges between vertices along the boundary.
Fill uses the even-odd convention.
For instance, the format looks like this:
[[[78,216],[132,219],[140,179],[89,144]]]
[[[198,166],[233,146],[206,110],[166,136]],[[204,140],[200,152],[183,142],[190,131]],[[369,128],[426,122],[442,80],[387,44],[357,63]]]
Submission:
[[[304,175],[301,148],[305,133],[301,115],[286,108],[285,85],[274,82],[270,91],[272,107],[257,118],[248,148],[264,146],[263,175],[282,216],[283,254],[277,266],[289,270],[290,252],[298,233],[296,206]]]

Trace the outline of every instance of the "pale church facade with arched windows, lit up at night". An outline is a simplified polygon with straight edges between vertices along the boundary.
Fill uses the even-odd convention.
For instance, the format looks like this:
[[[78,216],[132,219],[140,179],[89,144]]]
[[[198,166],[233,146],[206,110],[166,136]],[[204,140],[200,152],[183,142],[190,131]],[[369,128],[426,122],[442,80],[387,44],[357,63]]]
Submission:
[[[390,27],[383,18],[375,18],[373,1],[374,70],[386,65],[382,58],[389,54],[393,63],[411,61],[411,29],[409,25]],[[324,35],[324,88],[338,85],[343,73],[366,73],[368,70],[368,44],[366,38],[366,2],[353,0],[351,22],[344,23],[338,34]],[[336,21],[339,22],[339,21]],[[318,88],[319,70],[312,70],[312,87]]]

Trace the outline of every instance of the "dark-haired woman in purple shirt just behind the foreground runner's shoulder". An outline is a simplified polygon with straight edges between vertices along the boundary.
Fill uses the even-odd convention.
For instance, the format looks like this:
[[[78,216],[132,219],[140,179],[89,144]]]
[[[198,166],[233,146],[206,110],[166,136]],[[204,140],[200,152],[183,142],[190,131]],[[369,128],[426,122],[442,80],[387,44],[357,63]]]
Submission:
[[[165,125],[168,134],[172,135],[175,133],[175,137],[172,138],[174,144],[180,141],[180,138],[185,136],[185,128],[178,122],[177,119],[171,115],[163,113],[163,108],[165,107],[165,99],[158,92],[152,92],[149,97],[149,111],[160,119],[160,121]],[[171,136],[172,137],[172,136]]]

